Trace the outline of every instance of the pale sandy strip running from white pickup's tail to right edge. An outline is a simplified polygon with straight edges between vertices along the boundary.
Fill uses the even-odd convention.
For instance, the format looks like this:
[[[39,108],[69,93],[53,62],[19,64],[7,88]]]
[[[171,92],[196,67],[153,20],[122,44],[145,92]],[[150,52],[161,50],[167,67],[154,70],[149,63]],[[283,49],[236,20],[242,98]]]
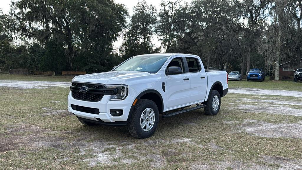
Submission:
[[[277,95],[277,96],[292,96],[302,97],[302,92],[290,90],[264,90],[252,88],[229,88],[228,93],[253,94],[253,95]]]

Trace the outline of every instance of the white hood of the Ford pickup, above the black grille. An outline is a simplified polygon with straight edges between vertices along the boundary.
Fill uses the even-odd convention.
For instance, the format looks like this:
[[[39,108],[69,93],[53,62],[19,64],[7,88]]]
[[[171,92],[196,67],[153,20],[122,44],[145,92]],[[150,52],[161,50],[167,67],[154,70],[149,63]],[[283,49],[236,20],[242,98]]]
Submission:
[[[149,74],[150,73],[140,71],[108,71],[76,76],[73,81],[101,84],[122,84],[123,81],[128,78],[146,76]]]

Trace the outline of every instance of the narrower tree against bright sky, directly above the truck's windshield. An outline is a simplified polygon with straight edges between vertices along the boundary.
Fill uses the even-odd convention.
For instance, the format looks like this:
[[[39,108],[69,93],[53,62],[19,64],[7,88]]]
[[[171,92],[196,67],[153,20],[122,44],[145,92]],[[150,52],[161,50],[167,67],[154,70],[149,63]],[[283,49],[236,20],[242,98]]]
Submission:
[[[157,21],[155,6],[149,5],[143,0],[137,3],[133,12],[128,31],[124,35],[124,41],[120,47],[124,59],[138,54],[159,52],[159,49],[154,48],[152,43],[154,25]]]

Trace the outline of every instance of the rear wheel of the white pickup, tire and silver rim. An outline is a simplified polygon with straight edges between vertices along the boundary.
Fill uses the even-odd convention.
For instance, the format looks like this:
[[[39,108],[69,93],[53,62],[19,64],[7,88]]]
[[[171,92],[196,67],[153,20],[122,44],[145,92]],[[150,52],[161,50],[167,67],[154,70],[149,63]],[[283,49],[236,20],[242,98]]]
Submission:
[[[207,106],[204,107],[204,112],[207,115],[217,115],[220,110],[220,94],[217,90],[212,90],[208,100]]]

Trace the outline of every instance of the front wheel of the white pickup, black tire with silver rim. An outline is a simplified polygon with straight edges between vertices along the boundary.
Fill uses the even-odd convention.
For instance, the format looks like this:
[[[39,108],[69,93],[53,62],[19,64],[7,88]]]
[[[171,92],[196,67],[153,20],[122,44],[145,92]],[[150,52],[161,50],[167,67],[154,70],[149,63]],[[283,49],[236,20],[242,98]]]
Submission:
[[[148,138],[157,128],[159,112],[152,100],[140,99],[134,106],[128,131],[136,138]]]

